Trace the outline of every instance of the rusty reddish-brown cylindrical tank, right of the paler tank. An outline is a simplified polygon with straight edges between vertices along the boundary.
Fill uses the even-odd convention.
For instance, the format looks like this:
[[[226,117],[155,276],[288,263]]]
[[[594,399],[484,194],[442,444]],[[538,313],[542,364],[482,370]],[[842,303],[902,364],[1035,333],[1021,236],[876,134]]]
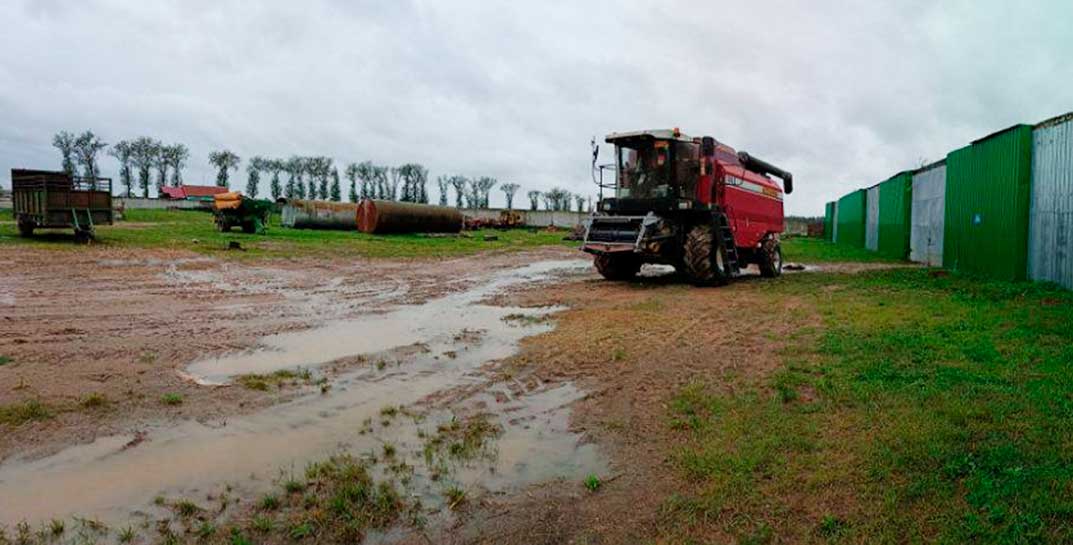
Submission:
[[[357,207],[357,229],[363,233],[458,233],[462,212],[432,206],[366,198]]]

